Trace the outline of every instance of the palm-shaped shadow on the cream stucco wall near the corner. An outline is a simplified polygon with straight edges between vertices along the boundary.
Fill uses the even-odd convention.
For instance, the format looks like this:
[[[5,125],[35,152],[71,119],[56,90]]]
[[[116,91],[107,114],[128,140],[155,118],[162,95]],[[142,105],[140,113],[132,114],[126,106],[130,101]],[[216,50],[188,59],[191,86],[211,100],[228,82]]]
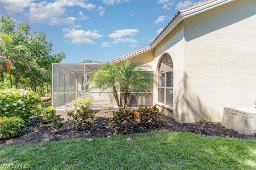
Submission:
[[[180,82],[175,100],[176,105],[173,117],[179,123],[193,123],[202,119],[214,121],[214,111],[207,108],[200,100],[200,97],[193,93],[188,83],[187,73],[184,73],[184,79]]]

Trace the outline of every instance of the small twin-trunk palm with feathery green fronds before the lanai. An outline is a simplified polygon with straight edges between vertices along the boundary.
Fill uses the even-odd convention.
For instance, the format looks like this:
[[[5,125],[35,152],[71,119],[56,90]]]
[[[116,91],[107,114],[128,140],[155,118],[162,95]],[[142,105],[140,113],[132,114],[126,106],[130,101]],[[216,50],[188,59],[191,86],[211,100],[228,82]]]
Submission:
[[[133,62],[132,59],[126,59],[118,66],[117,63],[102,64],[98,70],[94,70],[93,79],[88,83],[92,83],[92,88],[98,88],[102,91],[111,89],[116,104],[120,107],[118,91],[124,93],[122,103],[123,107],[128,107],[128,99],[130,92],[152,92],[154,84],[157,84],[156,75],[148,64],[142,62]]]

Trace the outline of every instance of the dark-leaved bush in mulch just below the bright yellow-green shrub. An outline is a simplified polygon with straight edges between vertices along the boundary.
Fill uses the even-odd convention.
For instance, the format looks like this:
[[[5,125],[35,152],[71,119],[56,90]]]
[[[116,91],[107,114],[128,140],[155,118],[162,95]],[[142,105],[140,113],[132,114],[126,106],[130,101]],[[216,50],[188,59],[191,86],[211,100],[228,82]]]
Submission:
[[[82,110],[76,110],[68,113],[68,121],[72,121],[76,128],[80,130],[86,130],[89,128],[92,119],[94,119],[94,111],[87,107],[82,106]]]

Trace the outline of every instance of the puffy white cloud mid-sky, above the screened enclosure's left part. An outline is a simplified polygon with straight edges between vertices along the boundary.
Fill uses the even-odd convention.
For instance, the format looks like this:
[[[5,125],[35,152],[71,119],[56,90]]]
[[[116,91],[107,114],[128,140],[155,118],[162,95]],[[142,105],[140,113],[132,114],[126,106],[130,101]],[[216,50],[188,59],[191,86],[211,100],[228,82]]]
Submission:
[[[97,39],[102,37],[102,35],[97,33],[98,32],[97,30],[84,31],[84,30],[74,30],[74,29],[70,30],[67,28],[63,28],[62,31],[66,33],[64,35],[64,38],[71,39],[72,43],[95,44],[95,42],[93,42],[90,39]]]

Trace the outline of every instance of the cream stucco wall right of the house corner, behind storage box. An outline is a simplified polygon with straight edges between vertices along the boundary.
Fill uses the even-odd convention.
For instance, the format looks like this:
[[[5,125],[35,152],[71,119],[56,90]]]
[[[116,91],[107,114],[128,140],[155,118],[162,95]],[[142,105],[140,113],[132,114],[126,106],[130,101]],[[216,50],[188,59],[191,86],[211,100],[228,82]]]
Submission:
[[[255,9],[256,1],[234,1],[184,20],[180,122],[222,121],[224,107],[254,107]]]

